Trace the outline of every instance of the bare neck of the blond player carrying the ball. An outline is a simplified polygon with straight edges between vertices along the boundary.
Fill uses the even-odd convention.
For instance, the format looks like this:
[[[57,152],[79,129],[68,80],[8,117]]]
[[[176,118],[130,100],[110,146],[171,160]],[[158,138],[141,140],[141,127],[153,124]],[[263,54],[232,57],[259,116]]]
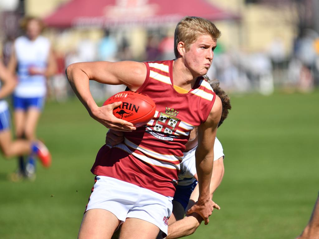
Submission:
[[[187,91],[190,91],[196,82],[197,76],[186,68],[182,58],[177,58],[173,62],[173,83]]]

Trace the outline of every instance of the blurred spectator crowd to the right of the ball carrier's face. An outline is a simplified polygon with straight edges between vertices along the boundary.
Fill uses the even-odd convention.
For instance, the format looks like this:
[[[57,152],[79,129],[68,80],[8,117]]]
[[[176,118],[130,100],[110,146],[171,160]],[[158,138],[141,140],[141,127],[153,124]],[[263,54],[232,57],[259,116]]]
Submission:
[[[319,83],[319,34],[306,31],[294,41],[292,54],[285,55],[280,39],[263,52],[239,49],[216,54],[208,72],[227,91],[258,91],[271,94],[274,88],[309,92]]]

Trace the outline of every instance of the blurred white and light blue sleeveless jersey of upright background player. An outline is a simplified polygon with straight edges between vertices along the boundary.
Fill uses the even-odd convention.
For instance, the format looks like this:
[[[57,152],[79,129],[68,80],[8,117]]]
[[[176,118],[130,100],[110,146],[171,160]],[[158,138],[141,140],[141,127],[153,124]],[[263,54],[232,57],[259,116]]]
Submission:
[[[31,41],[25,36],[18,37],[14,43],[18,62],[19,83],[14,95],[21,98],[43,97],[46,94],[46,78],[43,75],[30,76],[29,68],[45,69],[48,64],[50,42],[39,36]]]

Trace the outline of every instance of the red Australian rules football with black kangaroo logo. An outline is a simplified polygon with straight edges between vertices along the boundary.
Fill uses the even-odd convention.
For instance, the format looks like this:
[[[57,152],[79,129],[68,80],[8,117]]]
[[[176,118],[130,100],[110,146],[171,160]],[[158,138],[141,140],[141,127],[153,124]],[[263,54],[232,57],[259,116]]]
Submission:
[[[155,114],[155,103],[147,95],[135,91],[122,91],[108,98],[103,105],[122,101],[122,105],[113,109],[113,115],[118,119],[131,122],[135,127],[141,127],[152,120]]]

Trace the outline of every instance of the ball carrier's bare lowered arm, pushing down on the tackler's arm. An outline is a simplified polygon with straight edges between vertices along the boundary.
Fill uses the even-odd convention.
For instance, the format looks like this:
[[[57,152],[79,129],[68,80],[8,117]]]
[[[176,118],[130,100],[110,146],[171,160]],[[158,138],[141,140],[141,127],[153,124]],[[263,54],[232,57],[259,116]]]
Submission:
[[[198,127],[198,146],[196,149],[196,171],[199,185],[198,201],[192,206],[187,214],[198,213],[208,224],[208,217],[213,211],[213,201],[210,195],[210,182],[214,160],[214,141],[217,133],[217,126],[221,117],[222,104],[218,96],[211,109],[206,122]]]

